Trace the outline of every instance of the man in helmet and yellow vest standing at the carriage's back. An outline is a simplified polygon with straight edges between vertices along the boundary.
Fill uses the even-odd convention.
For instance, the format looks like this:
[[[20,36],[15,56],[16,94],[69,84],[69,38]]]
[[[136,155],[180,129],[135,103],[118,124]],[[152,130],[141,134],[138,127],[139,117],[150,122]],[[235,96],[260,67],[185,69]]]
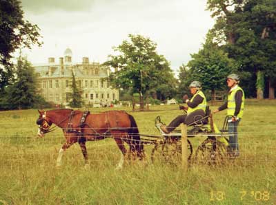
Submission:
[[[229,146],[233,157],[239,156],[239,144],[237,142],[237,126],[242,120],[244,114],[244,91],[239,87],[239,76],[230,74],[227,76],[227,86],[229,88],[228,98],[224,105],[215,109],[214,113],[227,109],[228,116],[228,132],[232,133],[229,136]]]

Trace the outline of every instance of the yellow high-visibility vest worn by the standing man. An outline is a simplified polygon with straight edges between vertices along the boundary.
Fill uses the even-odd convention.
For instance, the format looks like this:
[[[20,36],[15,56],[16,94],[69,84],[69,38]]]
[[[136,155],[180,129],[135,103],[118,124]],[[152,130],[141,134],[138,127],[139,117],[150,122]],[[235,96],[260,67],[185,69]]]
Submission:
[[[242,105],[241,109],[239,110],[239,114],[237,114],[238,118],[242,118],[244,114],[244,90],[237,86],[233,91],[228,94],[228,100],[227,100],[227,115],[228,116],[233,116],[235,114],[235,109],[236,109],[236,102],[235,102],[235,95],[237,91],[241,90],[242,91]]]

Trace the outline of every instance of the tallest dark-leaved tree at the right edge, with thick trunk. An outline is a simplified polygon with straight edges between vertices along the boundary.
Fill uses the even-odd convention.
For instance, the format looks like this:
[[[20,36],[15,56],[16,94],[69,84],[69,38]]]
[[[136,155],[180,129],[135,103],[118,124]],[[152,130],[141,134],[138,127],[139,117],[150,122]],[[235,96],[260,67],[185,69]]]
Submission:
[[[239,70],[257,79],[257,98],[263,98],[263,77],[275,78],[275,4],[275,0],[208,0],[216,19],[213,32],[229,57],[239,62]]]

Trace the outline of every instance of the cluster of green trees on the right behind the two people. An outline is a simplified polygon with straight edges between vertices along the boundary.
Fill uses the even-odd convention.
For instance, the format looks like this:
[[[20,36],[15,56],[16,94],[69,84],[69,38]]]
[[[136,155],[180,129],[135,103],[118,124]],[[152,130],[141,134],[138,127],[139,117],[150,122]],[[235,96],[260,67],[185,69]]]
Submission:
[[[227,74],[235,72],[247,98],[274,99],[276,87],[276,1],[208,0],[215,18],[206,42],[192,60],[180,67],[181,90],[191,80],[205,89],[226,89]]]

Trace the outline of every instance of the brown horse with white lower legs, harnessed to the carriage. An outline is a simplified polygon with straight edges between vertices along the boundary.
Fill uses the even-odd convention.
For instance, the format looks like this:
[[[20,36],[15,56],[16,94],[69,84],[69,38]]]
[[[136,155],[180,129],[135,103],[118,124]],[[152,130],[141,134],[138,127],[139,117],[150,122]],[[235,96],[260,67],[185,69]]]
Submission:
[[[75,142],[79,143],[86,166],[88,165],[88,153],[86,141],[103,140],[114,138],[121,150],[121,160],[117,169],[124,164],[127,153],[124,142],[129,144],[130,153],[137,155],[140,160],[144,157],[144,147],[141,143],[139,130],[135,119],[126,111],[106,111],[100,114],[89,114],[72,109],[55,109],[40,111],[37,125],[39,125],[38,136],[43,137],[45,133],[53,130],[51,125],[55,124],[63,130],[66,142],[59,150],[57,166],[61,166],[63,152]]]

